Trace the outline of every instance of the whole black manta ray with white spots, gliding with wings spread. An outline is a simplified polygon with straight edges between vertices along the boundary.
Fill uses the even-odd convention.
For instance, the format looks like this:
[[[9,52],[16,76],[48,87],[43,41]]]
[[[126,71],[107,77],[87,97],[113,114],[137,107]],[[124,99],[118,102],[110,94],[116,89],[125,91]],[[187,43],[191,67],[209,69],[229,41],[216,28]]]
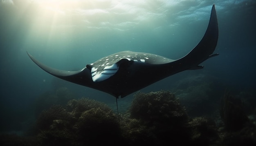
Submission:
[[[123,51],[101,58],[79,71],[61,71],[38,62],[29,53],[28,55],[40,68],[56,77],[118,98],[125,97],[175,73],[189,69],[202,69],[203,66],[198,66],[200,63],[218,55],[212,54],[217,41],[218,22],[213,5],[211,18],[202,40],[192,51],[178,60],[150,53]]]

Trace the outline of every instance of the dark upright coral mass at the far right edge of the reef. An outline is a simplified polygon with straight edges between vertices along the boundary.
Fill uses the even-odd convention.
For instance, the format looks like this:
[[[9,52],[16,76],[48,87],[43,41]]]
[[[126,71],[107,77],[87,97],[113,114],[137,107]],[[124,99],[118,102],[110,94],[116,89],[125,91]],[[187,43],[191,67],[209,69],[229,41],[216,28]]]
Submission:
[[[245,113],[245,105],[241,99],[245,100],[246,97],[230,95],[227,91],[221,99],[220,117],[225,127],[220,130],[222,144],[229,146],[256,145],[256,124],[255,119],[252,118],[254,115],[250,115],[252,118],[250,120]]]

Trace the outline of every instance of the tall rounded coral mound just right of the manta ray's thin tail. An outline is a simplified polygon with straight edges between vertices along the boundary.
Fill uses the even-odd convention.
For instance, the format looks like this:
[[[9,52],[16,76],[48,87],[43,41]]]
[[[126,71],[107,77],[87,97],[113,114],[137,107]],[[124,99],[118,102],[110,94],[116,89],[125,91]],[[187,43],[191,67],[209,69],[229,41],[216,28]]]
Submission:
[[[121,121],[123,136],[129,145],[163,145],[189,139],[184,126],[188,116],[173,93],[137,93],[129,114]]]

